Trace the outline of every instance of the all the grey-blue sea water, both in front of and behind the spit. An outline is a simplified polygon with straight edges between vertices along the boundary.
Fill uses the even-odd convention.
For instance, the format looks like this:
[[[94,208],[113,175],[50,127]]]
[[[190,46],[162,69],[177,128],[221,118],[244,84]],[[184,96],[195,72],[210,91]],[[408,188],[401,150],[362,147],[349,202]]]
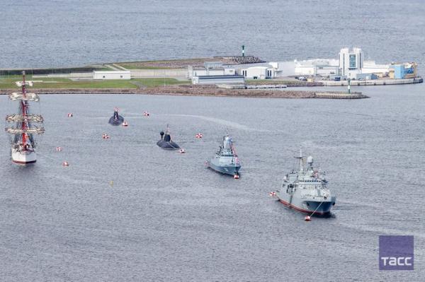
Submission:
[[[356,45],[379,62],[425,64],[424,15],[421,1],[394,0],[2,1],[0,67],[238,54],[242,44],[271,60]],[[0,134],[0,280],[422,281],[425,86],[357,89],[371,98],[42,95],[36,165],[12,165]],[[13,106],[1,96],[0,116]],[[130,127],[107,124],[115,106]],[[156,146],[166,124],[186,154]],[[204,167],[226,132],[239,180]],[[300,146],[327,171],[331,218],[306,223],[268,196]],[[416,269],[378,271],[378,235],[414,235]]]

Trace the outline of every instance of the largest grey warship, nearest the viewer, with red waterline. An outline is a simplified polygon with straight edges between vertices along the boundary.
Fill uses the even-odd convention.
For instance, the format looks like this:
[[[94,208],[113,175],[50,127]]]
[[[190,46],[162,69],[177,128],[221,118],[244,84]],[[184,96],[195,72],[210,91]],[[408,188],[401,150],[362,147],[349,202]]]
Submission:
[[[300,170],[292,170],[283,180],[282,187],[276,190],[276,196],[285,206],[290,206],[303,213],[312,215],[329,215],[335,205],[336,196],[331,196],[324,175],[313,168],[313,158],[307,158],[307,169],[304,168],[300,151]]]

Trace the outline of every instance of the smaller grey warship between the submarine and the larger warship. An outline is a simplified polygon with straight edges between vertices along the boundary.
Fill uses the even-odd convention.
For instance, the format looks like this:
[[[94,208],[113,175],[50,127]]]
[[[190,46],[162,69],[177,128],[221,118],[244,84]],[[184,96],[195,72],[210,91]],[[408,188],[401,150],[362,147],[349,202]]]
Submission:
[[[229,136],[223,136],[219,151],[215,153],[213,158],[207,161],[207,165],[212,170],[239,178],[241,164],[234,150],[233,141]]]

